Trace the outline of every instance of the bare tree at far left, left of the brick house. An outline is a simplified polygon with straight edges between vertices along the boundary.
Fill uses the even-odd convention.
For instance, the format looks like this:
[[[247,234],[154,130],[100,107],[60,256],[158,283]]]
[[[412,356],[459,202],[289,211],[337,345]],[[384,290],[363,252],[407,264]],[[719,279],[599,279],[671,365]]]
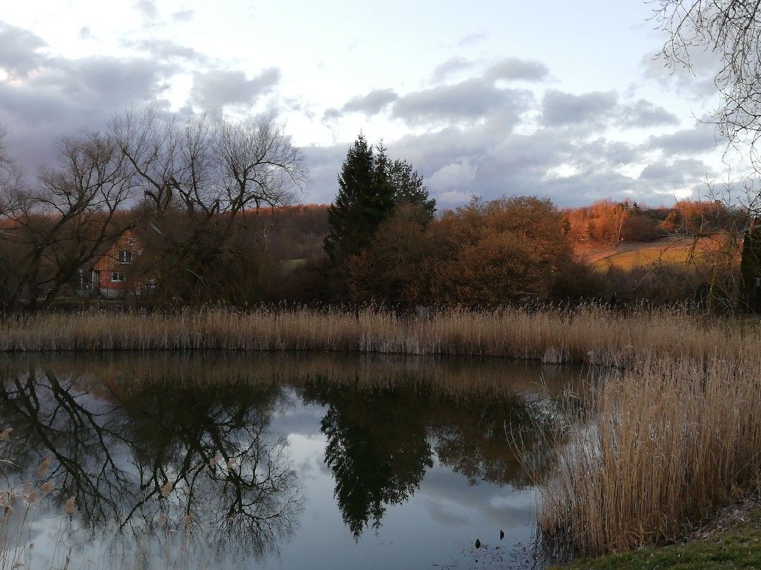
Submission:
[[[132,173],[112,137],[63,139],[59,157],[56,168],[40,171],[36,189],[17,188],[9,201],[11,304],[27,296],[31,309],[48,306],[131,225],[118,212],[132,198]]]

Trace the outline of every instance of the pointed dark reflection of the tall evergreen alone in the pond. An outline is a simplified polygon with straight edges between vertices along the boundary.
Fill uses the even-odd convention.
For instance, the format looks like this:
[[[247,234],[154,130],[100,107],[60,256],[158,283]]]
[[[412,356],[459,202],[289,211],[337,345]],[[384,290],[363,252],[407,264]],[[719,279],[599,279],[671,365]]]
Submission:
[[[358,538],[368,524],[380,527],[387,505],[409,499],[433,465],[427,401],[408,391],[350,388],[311,388],[307,399],[329,406],[320,423],[325,461],[343,520]]]

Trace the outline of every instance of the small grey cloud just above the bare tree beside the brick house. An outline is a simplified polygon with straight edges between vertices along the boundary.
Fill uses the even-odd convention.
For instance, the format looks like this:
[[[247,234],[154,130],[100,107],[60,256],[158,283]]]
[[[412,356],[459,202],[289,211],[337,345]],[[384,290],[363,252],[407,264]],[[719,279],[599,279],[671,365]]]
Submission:
[[[243,71],[215,69],[193,75],[190,97],[208,112],[226,105],[253,103],[280,81],[279,68],[269,68],[248,79]]]

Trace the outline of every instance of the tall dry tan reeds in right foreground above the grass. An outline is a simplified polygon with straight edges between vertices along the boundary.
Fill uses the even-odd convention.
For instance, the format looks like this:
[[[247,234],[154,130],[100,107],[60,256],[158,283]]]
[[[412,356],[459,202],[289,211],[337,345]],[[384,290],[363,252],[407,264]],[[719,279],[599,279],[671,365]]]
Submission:
[[[635,549],[761,490],[757,353],[640,363],[599,388],[551,436],[556,469],[537,477],[546,537],[587,556]]]

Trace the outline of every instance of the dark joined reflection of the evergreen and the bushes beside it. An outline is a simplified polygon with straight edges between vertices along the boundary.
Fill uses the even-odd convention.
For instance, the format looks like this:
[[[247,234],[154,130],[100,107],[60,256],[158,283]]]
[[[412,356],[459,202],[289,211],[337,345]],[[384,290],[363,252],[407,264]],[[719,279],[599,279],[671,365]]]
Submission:
[[[487,480],[521,487],[527,476],[514,434],[524,442],[540,440],[537,407],[510,391],[447,397],[409,386],[368,391],[320,383],[307,385],[302,394],[327,407],[320,423],[327,439],[325,462],[355,539],[366,527],[380,527],[388,505],[412,497],[434,456],[470,485]]]

